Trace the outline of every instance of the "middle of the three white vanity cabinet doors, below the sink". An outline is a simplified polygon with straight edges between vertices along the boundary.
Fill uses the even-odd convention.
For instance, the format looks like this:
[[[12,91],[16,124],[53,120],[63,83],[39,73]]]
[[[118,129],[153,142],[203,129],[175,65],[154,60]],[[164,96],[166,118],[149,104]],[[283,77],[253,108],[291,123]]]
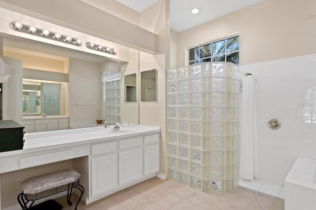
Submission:
[[[143,148],[118,153],[118,185],[143,176]]]

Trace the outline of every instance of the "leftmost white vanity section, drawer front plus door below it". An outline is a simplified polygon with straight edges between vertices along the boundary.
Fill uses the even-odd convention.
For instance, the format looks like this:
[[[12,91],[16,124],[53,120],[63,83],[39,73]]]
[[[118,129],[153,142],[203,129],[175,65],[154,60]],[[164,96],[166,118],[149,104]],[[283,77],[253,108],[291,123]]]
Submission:
[[[96,196],[116,187],[118,161],[115,151],[115,141],[91,146],[91,156],[93,157],[91,158],[91,196]]]

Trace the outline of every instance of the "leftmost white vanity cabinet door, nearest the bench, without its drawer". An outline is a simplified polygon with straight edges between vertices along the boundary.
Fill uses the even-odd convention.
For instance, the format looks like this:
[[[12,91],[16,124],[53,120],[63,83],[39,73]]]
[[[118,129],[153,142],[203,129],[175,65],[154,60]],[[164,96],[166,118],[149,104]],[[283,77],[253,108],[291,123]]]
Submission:
[[[91,195],[115,188],[115,154],[91,159]]]

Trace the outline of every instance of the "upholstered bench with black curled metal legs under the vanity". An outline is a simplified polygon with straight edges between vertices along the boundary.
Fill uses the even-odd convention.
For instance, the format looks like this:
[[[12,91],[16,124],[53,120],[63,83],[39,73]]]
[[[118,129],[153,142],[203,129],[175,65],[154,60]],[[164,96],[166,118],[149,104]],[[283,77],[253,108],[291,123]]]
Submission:
[[[84,192],[83,186],[79,184],[79,178],[80,175],[75,170],[65,169],[25,179],[21,182],[22,193],[18,195],[18,202],[22,210],[29,210],[36,200],[68,190],[67,203],[71,206],[70,197],[72,190],[73,188],[77,188],[81,192],[75,207],[75,210],[77,210]],[[27,207],[30,201],[31,204]]]

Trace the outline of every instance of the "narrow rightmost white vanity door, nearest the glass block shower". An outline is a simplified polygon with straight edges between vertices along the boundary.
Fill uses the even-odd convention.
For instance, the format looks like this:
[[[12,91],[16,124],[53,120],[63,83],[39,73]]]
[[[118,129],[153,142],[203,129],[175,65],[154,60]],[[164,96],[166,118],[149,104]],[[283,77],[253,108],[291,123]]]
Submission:
[[[144,147],[144,175],[159,172],[159,144]]]

